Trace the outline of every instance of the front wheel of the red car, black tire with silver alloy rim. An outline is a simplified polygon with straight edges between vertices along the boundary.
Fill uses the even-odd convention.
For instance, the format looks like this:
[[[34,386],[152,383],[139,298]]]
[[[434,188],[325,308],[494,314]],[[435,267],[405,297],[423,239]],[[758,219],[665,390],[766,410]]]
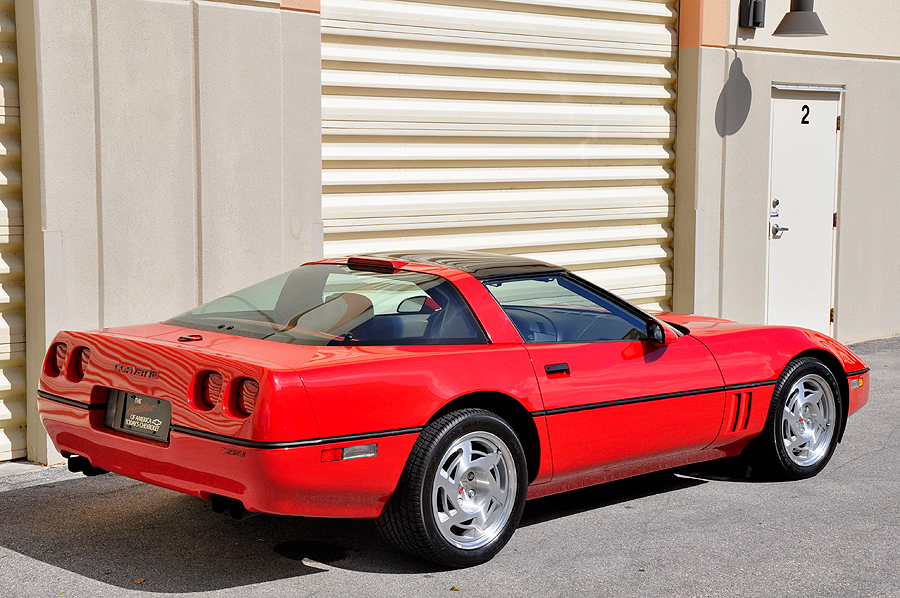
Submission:
[[[782,480],[811,478],[828,464],[843,419],[837,380],[814,357],[781,371],[762,434],[751,445],[751,464]]]

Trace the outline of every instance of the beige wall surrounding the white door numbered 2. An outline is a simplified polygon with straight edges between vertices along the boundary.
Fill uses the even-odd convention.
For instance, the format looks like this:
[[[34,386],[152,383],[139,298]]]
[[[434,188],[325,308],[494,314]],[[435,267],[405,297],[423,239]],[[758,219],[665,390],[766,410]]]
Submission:
[[[679,53],[675,309],[765,321],[772,84],[843,86],[833,331],[900,335],[900,17],[874,1],[820,1],[828,36],[773,38],[789,0],[769,0],[755,31],[737,28],[737,0],[718,4],[725,47]]]

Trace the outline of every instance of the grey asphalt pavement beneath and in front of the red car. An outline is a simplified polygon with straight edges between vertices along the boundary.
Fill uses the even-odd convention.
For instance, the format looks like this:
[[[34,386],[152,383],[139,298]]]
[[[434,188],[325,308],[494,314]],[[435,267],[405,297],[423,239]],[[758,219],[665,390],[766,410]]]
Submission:
[[[900,338],[853,349],[871,398],[817,477],[724,463],[531,501],[466,570],[395,551],[371,521],[235,521],[113,474],[5,464],[0,597],[900,597]]]

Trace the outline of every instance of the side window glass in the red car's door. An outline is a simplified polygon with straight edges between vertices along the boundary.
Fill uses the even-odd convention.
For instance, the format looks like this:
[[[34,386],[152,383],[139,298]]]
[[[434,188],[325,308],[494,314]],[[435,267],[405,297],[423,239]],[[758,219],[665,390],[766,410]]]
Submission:
[[[647,337],[643,318],[561,276],[486,282],[526,343],[591,343]]]

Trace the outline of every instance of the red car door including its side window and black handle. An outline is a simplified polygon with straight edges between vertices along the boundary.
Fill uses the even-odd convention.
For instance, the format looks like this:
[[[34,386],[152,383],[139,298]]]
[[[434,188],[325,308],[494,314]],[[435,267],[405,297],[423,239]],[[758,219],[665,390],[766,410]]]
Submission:
[[[486,286],[531,355],[554,482],[574,487],[677,464],[716,438],[724,383],[698,340],[651,343],[644,314],[574,277]]]

